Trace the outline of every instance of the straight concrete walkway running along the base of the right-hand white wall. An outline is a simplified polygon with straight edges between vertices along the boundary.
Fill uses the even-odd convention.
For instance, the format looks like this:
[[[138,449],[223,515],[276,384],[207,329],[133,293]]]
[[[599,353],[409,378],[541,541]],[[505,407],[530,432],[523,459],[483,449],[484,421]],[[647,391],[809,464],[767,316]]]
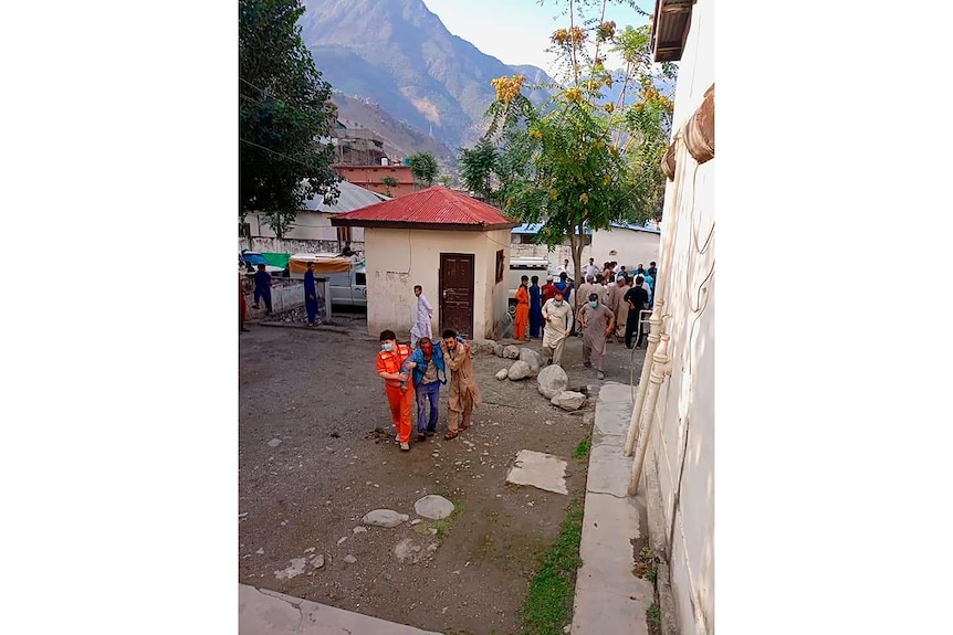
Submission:
[[[645,496],[627,496],[631,458],[622,456],[632,415],[628,384],[605,382],[596,401],[573,635],[648,635],[654,589],[632,573],[632,540],[647,531]]]

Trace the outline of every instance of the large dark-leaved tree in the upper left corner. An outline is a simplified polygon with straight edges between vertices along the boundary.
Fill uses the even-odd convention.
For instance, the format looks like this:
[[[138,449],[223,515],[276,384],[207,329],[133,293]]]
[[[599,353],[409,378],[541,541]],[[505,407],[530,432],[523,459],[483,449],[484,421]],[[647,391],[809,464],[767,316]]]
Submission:
[[[331,85],[301,40],[301,0],[239,0],[239,216],[277,236],[304,202],[338,194]]]

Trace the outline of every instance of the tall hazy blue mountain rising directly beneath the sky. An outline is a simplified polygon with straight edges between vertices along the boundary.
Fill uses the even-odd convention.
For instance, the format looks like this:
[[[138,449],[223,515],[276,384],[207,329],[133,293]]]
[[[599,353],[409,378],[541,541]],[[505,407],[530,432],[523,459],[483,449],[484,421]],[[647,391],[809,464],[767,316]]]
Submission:
[[[304,0],[302,39],[331,85],[359,96],[451,148],[469,146],[486,126],[490,81],[526,76],[552,83],[535,66],[509,66],[451,34],[422,0]],[[542,102],[547,94],[527,94]]]

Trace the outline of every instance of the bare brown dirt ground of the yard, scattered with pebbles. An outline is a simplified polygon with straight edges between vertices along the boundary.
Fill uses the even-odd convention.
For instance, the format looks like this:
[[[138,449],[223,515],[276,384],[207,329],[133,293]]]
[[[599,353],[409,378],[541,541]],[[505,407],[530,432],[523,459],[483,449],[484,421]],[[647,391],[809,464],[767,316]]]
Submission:
[[[240,582],[442,633],[519,633],[536,557],[585,489],[573,453],[591,430],[599,382],[582,366],[580,340],[564,368],[570,388],[589,389],[584,411],[554,408],[535,379],[498,381],[510,362],[476,356],[484,404],[473,427],[443,441],[441,389],[439,434],[402,453],[375,373],[378,342],[362,320],[345,322],[347,332],[252,324],[240,336]],[[606,379],[628,383],[642,357],[610,345]],[[523,448],[567,459],[568,496],[505,484]],[[413,504],[427,494],[457,504],[454,518],[354,532],[378,508],[418,518]],[[276,575],[300,558],[303,573]]]

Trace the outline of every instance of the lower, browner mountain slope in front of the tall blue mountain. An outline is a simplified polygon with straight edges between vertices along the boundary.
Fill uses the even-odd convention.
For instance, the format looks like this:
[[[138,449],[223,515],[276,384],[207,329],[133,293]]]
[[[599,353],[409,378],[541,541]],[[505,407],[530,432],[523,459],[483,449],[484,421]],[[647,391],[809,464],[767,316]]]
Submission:
[[[402,159],[413,152],[430,152],[441,165],[455,165],[455,152],[447,144],[402,121],[398,121],[379,104],[335,93],[337,119],[348,128],[374,130],[383,140],[384,149],[392,159]]]

